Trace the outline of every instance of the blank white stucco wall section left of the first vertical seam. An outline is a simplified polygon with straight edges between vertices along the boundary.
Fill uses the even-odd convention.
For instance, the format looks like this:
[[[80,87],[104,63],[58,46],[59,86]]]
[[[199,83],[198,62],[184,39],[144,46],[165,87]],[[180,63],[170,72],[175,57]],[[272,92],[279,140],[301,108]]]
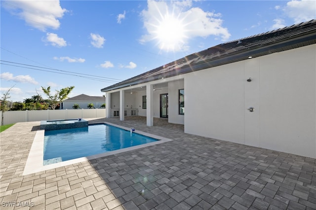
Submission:
[[[244,143],[244,64],[238,62],[185,77],[185,132]]]

